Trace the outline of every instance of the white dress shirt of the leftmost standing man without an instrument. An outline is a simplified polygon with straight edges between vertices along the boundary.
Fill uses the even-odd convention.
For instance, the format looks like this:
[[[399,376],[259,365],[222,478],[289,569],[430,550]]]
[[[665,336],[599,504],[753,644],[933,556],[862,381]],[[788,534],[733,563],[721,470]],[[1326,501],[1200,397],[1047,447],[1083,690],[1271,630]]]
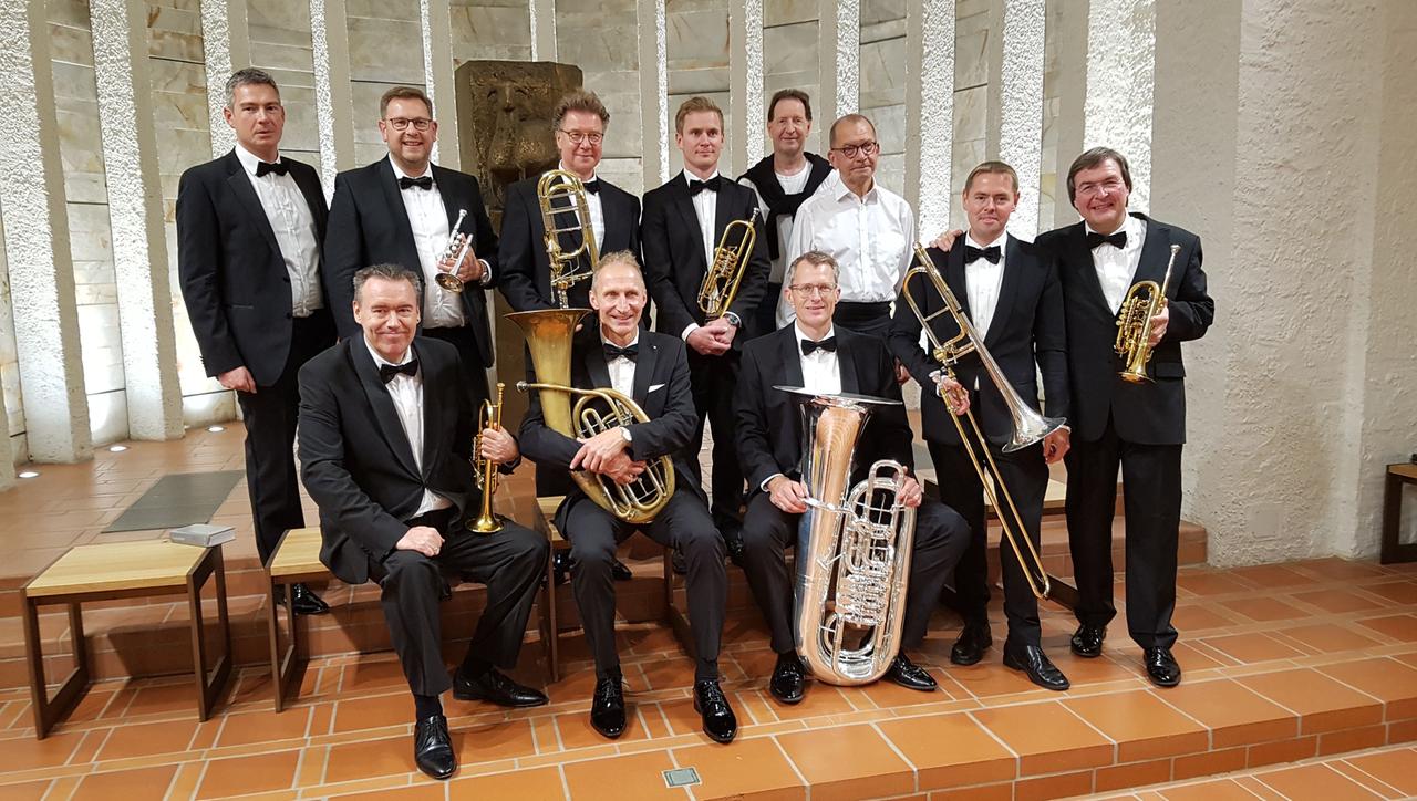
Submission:
[[[256,166],[261,164],[261,159],[239,143],[237,160],[241,161],[251,187],[256,191],[256,200],[266,212],[275,243],[281,246],[281,259],[290,276],[290,313],[295,317],[309,317],[316,309],[324,307],[319,272],[320,246],[315,235],[310,204],[289,173],[285,175],[266,173],[258,178]],[[279,156],[276,160],[279,161]]]

